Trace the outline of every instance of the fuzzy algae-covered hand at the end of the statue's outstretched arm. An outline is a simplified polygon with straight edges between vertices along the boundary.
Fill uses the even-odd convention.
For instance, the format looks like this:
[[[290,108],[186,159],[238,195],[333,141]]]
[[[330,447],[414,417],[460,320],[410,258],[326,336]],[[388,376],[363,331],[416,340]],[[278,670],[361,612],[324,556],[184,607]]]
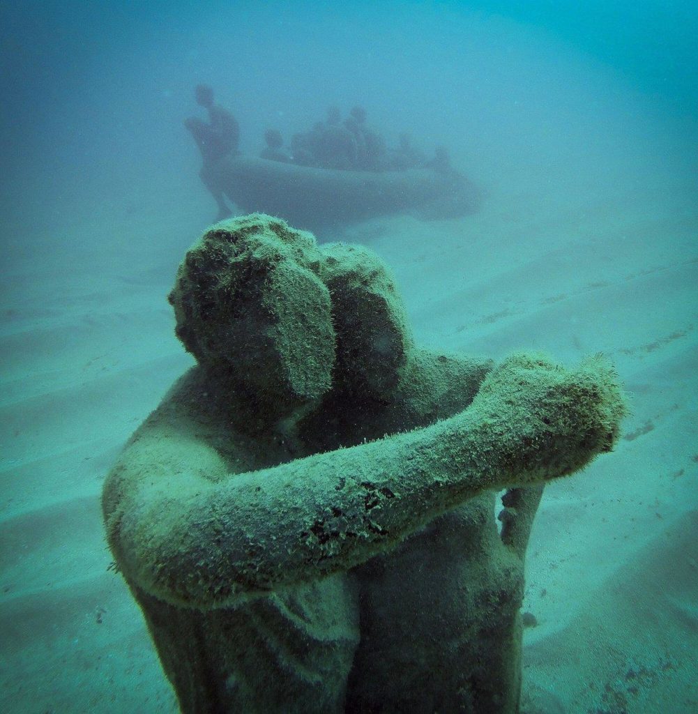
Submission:
[[[617,374],[601,358],[567,370],[515,355],[485,378],[466,413],[480,458],[513,484],[567,476],[611,451],[625,406]]]

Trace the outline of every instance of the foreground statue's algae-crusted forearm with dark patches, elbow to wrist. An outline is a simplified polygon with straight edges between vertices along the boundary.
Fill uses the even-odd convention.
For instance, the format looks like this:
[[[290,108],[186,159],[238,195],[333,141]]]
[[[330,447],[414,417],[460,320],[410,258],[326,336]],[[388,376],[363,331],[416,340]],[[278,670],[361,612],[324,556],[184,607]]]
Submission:
[[[197,608],[348,570],[494,485],[490,468],[459,456],[467,447],[450,421],[183,498],[155,486],[151,507],[143,488],[141,506],[112,521],[119,565],[153,595]]]

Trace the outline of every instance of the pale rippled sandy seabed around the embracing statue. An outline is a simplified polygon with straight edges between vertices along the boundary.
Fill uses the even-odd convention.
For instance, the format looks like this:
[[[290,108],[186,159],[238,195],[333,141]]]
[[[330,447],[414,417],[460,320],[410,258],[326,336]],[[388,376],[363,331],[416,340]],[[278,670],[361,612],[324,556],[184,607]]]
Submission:
[[[535,349],[568,364],[602,352],[629,391],[617,450],[549,486],[537,516],[524,604],[537,620],[525,632],[530,712],[698,710],[688,183],[580,183],[546,200],[545,185],[490,181],[475,216],[384,218],[327,236],[366,243],[393,266],[420,342],[497,359]],[[166,293],[211,204],[183,188],[181,201],[100,210],[27,219],[7,241],[0,710],[16,714],[176,711],[141,613],[109,568],[99,495],[126,438],[191,365]]]

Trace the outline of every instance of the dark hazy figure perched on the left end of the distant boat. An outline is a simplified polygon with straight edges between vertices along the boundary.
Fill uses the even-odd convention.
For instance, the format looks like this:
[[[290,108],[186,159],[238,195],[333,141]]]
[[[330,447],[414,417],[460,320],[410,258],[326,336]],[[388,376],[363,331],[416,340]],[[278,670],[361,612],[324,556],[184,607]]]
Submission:
[[[208,84],[198,84],[196,86],[196,103],[203,106],[208,111],[208,124],[196,116],[191,116],[184,121],[184,126],[188,129],[196,141],[203,166],[199,172],[203,185],[211,191],[218,206],[218,221],[231,216],[232,211],[228,208],[223,191],[217,185],[213,167],[218,161],[230,154],[238,153],[240,143],[240,127],[235,117],[219,104],[213,101],[213,89]]]

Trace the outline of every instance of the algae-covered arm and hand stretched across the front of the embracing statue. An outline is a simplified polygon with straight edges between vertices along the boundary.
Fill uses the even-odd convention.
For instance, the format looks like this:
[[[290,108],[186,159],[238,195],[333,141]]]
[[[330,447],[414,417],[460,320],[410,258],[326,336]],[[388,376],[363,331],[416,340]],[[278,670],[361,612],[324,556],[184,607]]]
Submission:
[[[567,371],[515,356],[452,418],[218,482],[220,473],[203,476],[223,468],[213,448],[155,433],[153,463],[147,450],[126,453],[111,474],[108,538],[128,580],[148,593],[230,605],[348,570],[487,488],[577,471],[610,451],[623,413],[604,363]],[[195,468],[183,458],[191,449]]]

